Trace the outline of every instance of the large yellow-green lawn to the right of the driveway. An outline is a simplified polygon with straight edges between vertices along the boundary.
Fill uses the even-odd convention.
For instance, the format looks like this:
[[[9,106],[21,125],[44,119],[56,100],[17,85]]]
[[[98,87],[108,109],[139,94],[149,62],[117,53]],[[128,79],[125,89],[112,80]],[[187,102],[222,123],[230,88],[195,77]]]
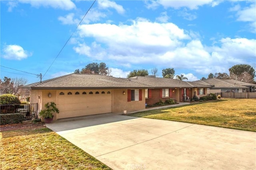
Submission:
[[[222,99],[155,109],[129,116],[256,131],[256,99]]]

